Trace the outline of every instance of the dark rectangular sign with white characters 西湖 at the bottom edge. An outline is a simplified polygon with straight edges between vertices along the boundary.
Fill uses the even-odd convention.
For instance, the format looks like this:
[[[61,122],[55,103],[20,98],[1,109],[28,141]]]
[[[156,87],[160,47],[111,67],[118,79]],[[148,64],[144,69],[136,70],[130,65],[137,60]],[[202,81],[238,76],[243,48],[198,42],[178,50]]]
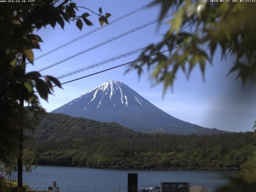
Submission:
[[[160,192],[190,192],[190,184],[187,182],[161,182]]]

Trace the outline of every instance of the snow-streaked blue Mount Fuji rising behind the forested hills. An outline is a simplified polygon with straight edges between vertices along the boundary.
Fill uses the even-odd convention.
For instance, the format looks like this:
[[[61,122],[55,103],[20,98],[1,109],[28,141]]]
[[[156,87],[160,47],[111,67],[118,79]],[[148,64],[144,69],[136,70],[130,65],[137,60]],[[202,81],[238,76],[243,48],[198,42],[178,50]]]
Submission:
[[[204,128],[175,118],[154,106],[126,84],[111,80],[64,104],[52,113],[117,122],[141,132],[169,134],[218,134],[226,131]],[[228,133],[228,132],[226,132]]]

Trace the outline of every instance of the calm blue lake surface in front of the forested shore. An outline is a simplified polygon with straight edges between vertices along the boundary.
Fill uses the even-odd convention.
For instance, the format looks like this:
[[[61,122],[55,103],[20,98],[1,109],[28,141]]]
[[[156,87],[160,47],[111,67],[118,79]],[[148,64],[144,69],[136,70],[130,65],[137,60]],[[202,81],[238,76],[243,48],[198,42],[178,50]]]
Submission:
[[[78,167],[38,166],[31,173],[23,173],[23,182],[33,189],[46,190],[53,181],[60,192],[119,192],[127,191],[127,174],[138,173],[138,189],[160,186],[160,182],[190,182],[202,185],[210,192],[227,182],[238,171],[149,171],[102,170]]]

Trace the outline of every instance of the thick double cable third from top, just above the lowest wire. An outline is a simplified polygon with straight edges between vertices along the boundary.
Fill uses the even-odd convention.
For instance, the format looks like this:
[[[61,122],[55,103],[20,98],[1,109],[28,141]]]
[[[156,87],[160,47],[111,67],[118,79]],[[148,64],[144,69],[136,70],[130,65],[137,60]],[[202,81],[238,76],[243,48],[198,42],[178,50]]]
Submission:
[[[198,32],[198,31],[200,31],[200,30],[202,30],[202,28],[198,28],[198,29],[196,29],[196,30],[194,30],[194,31],[191,31],[191,32],[189,32],[189,34],[193,34],[193,33]],[[158,44],[160,44],[160,43],[162,43],[162,42],[159,42],[159,41],[158,41],[158,42],[154,42],[154,44],[152,44],[152,45],[153,45],[153,46],[156,46],[156,45],[158,45]],[[130,55],[136,54],[136,53],[138,53],[138,52],[142,52],[142,51],[144,51],[147,47],[148,47],[148,45],[143,46],[143,47],[140,47],[140,48],[137,48],[137,49],[134,49],[134,50],[131,50],[131,51],[129,51],[129,52],[125,52],[125,53],[123,53],[123,54],[119,54],[119,55],[117,55],[117,56],[108,58],[108,59],[106,59],[106,60],[102,60],[102,61],[100,61],[100,62],[96,62],[96,63],[94,63],[94,64],[90,64],[90,65],[88,65],[88,66],[79,68],[79,69],[77,69],[77,70],[73,70],[73,71],[71,71],[71,72],[67,72],[67,73],[61,74],[61,75],[59,75],[59,76],[56,76],[56,78],[57,78],[57,79],[62,79],[62,78],[65,78],[65,77],[74,75],[74,74],[76,74],[76,73],[80,73],[80,72],[83,72],[83,71],[85,71],[85,70],[89,70],[89,69],[92,69],[92,68],[94,68],[94,67],[101,66],[101,65],[103,65],[103,64],[112,62],[112,61],[114,61],[114,60],[118,60],[118,59],[121,59],[121,58],[130,56]]]

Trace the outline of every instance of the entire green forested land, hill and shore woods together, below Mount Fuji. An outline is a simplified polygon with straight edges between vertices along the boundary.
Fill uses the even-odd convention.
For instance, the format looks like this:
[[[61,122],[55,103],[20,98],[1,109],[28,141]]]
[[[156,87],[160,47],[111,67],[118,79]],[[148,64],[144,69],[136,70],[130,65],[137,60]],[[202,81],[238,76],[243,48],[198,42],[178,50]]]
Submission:
[[[239,170],[255,150],[251,132],[207,136],[145,134],[64,114],[42,118],[25,148],[39,165],[113,169]]]

